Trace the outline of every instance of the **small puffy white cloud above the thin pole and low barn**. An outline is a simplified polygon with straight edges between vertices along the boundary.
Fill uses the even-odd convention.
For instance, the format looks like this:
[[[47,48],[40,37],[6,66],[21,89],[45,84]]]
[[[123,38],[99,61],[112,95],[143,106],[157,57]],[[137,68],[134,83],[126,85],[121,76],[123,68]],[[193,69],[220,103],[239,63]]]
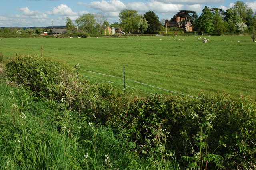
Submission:
[[[62,15],[62,16],[77,16],[76,12],[73,12],[71,8],[69,8],[65,4],[60,4],[57,7],[54,7],[52,11],[47,11],[46,14],[50,15]]]

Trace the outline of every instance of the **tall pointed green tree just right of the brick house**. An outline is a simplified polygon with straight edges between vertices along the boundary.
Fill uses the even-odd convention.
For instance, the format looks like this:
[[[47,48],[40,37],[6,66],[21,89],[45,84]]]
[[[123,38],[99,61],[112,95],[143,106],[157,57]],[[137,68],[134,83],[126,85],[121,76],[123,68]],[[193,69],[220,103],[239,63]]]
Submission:
[[[197,20],[198,28],[202,33],[202,35],[204,34],[204,32],[207,32],[209,34],[213,32],[214,30],[213,20],[214,20],[214,16],[212,12],[207,6],[205,6],[204,9],[202,10],[202,14]]]

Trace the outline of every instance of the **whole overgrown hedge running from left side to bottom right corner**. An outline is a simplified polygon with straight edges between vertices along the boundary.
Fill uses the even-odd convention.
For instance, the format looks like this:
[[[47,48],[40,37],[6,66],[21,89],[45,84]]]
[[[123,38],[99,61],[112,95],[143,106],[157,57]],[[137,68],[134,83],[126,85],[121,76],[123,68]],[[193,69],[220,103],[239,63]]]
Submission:
[[[201,99],[125,96],[110,85],[75,76],[78,70],[79,65],[74,71],[30,55],[6,63],[12,80],[77,111],[81,121],[111,127],[134,142],[141,156],[164,161],[175,157],[184,168],[256,165],[256,101],[227,93],[201,94]]]

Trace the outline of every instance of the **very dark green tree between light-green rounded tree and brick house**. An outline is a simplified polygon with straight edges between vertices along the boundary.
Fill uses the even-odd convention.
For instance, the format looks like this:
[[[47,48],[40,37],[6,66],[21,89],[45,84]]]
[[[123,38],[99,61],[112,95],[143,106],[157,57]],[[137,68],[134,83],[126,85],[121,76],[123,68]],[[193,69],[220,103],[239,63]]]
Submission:
[[[156,32],[160,30],[161,23],[159,22],[159,18],[154,11],[148,11],[143,16],[144,19],[147,20],[149,26],[146,30],[146,33],[150,34],[152,32]]]

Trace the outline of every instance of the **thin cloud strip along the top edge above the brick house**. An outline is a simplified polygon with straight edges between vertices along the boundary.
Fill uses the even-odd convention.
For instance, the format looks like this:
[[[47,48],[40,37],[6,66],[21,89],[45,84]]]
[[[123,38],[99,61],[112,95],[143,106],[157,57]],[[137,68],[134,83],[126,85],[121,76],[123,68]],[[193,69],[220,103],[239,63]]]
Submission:
[[[221,4],[224,0],[157,0],[166,4]]]

